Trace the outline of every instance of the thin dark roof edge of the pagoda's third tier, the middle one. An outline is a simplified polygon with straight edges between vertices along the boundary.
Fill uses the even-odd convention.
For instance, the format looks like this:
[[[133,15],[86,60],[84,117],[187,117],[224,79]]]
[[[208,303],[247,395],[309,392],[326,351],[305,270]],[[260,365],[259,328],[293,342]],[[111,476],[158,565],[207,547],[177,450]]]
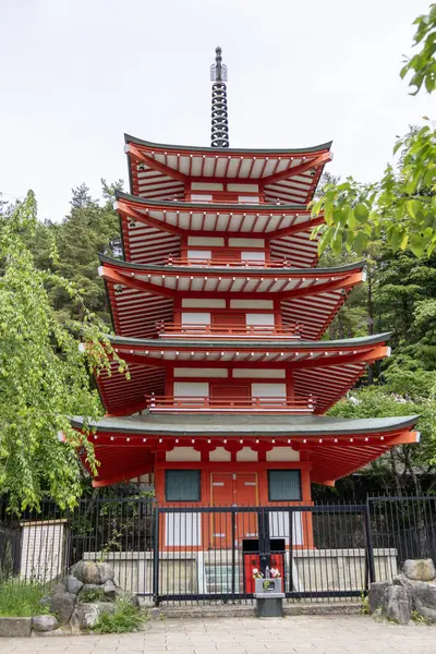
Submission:
[[[118,259],[114,257],[110,257],[107,256],[102,253],[100,253],[98,255],[98,258],[100,261],[100,263],[102,264],[109,264],[111,266],[114,266],[117,268],[131,268],[134,270],[142,270],[144,272],[148,272],[148,271],[158,271],[158,272],[162,272],[164,275],[171,275],[171,274],[180,274],[180,272],[185,272],[186,271],[186,266],[178,266],[178,265],[158,265],[158,264],[135,264],[133,262],[125,262],[122,259]],[[351,270],[355,270],[355,271],[360,271],[362,270],[366,265],[365,261],[361,261],[361,262],[355,262],[353,264],[346,264],[343,266],[336,266],[334,268],[292,268],[292,267],[283,267],[283,268],[263,268],[262,266],[255,266],[255,267],[244,267],[244,266],[235,266],[235,267],[231,267],[231,266],[226,266],[226,267],[219,267],[219,266],[201,266],[201,265],[195,265],[195,266],[190,266],[189,267],[189,272],[190,275],[198,275],[198,274],[208,274],[210,275],[211,272],[215,274],[219,274],[219,275],[235,275],[235,274],[240,274],[243,276],[246,275],[270,275],[271,277],[277,277],[277,276],[287,276],[287,275],[304,275],[305,277],[316,277],[317,275],[337,275],[340,272],[348,272]]]

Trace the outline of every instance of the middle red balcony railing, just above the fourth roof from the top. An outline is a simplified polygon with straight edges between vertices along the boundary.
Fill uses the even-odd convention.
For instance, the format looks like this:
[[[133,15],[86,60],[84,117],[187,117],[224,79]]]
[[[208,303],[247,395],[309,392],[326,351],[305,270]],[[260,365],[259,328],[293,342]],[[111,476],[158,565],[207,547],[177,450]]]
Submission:
[[[171,338],[183,337],[210,337],[220,336],[225,338],[274,338],[292,339],[301,338],[300,325],[175,325],[174,323],[157,323],[156,328],[159,336]]]

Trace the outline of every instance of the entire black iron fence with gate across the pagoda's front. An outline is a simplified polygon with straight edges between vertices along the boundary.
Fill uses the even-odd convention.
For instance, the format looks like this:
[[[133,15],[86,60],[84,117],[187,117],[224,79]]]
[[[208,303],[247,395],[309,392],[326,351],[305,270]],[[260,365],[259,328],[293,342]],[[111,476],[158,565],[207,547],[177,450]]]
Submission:
[[[0,584],[52,584],[80,560],[108,561],[120,585],[156,603],[252,602],[277,574],[288,601],[359,597],[407,558],[436,559],[435,497],[265,507],[158,506],[89,498],[16,517],[0,500]]]

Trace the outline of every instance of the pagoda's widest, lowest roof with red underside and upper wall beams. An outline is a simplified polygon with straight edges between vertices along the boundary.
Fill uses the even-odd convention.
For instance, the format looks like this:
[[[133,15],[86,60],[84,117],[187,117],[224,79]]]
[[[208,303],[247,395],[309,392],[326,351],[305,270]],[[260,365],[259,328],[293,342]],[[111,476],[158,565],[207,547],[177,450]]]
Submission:
[[[334,485],[341,476],[388,452],[397,445],[419,441],[412,431],[416,415],[348,420],[303,415],[240,415],[145,412],[104,417],[90,423],[89,439],[100,462],[95,486],[134,480],[155,472],[158,501],[177,501],[166,489],[165,471],[195,471],[199,500],[219,504],[220,483],[214,475],[250,472],[250,504],[275,501],[268,486],[271,471],[293,471],[295,496],[278,500],[311,500],[311,482]],[[83,419],[72,421],[82,429]],[[160,474],[161,473],[161,474]],[[168,482],[168,480],[167,480]],[[173,493],[173,491],[171,491]],[[245,497],[247,500],[247,496]],[[242,502],[241,502],[242,504]]]

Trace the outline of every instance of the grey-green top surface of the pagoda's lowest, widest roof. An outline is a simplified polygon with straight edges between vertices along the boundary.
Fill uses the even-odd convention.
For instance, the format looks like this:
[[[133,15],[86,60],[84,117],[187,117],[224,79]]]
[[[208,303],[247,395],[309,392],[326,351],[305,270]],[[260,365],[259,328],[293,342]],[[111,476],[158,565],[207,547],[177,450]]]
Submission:
[[[413,427],[419,415],[396,417],[370,419],[340,419],[329,416],[283,416],[283,415],[242,415],[231,414],[198,414],[184,413],[183,421],[180,414],[145,413],[137,416],[102,417],[100,421],[90,421],[88,428],[101,433],[137,434],[159,436],[340,436],[340,435],[367,435],[387,432],[397,432]],[[263,423],[264,421],[264,423]],[[84,419],[74,416],[71,424],[76,429],[84,427]]]

